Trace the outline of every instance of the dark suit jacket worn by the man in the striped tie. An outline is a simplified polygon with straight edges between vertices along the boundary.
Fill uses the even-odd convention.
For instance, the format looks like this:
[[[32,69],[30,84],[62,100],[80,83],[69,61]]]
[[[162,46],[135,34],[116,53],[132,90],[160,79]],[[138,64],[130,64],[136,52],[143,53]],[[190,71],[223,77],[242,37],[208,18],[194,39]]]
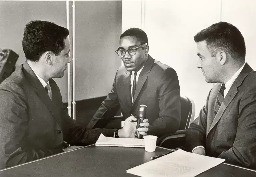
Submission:
[[[215,103],[221,87],[210,91],[206,105],[186,134],[186,150],[204,146],[206,155],[256,169],[256,72],[246,63],[219,111]]]

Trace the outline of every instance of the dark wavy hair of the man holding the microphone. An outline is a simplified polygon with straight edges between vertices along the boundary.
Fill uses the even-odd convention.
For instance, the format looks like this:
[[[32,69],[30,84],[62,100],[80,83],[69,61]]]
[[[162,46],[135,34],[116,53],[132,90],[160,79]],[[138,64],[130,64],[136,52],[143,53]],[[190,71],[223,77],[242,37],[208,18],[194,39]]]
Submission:
[[[65,48],[67,28],[48,21],[32,20],[24,30],[22,47],[28,60],[37,62],[46,51],[59,55]]]

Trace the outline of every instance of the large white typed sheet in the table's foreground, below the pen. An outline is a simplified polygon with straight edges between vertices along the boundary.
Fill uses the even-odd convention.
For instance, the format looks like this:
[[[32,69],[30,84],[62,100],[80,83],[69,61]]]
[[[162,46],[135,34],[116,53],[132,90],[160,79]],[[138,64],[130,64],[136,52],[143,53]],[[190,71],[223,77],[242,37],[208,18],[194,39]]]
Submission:
[[[181,149],[127,170],[142,177],[191,177],[213,168],[225,159],[198,155]]]

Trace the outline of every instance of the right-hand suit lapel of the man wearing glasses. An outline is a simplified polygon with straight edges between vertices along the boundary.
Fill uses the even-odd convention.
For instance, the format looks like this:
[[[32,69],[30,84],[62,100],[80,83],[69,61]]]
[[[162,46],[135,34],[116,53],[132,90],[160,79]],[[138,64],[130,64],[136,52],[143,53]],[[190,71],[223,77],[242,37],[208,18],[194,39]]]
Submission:
[[[154,63],[154,59],[150,55],[148,55],[148,59],[147,59],[145,65],[144,65],[144,68],[142,69],[142,71],[139,75],[139,79],[138,79],[138,82],[137,82],[137,86],[136,86],[136,90],[135,90],[132,105],[134,105],[134,103],[137,101],[138,95],[139,95],[143,85],[145,84],[145,81],[148,78],[147,74],[150,72],[153,63]]]

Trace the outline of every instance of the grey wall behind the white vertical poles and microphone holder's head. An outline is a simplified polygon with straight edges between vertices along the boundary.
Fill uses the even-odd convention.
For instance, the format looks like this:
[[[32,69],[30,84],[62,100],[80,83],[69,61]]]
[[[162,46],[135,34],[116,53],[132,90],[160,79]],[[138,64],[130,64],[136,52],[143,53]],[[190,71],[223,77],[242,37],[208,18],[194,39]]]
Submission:
[[[76,1],[75,5],[76,100],[105,96],[121,66],[115,50],[121,34],[122,2]],[[69,7],[72,45],[72,1]],[[33,19],[66,27],[66,1],[0,1],[0,48],[10,48],[19,54],[16,67],[25,61],[23,32]],[[63,102],[67,102],[67,73],[55,80]]]

